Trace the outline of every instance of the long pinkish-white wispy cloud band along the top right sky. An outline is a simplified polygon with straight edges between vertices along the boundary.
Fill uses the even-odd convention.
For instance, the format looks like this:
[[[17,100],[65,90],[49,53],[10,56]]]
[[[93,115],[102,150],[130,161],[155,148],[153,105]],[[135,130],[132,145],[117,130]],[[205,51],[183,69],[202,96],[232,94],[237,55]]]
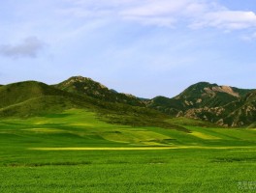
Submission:
[[[120,19],[161,27],[175,27],[180,21],[191,28],[213,27],[228,31],[256,27],[255,13],[232,11],[209,0],[68,1],[74,8],[66,14],[75,16],[114,15]]]

